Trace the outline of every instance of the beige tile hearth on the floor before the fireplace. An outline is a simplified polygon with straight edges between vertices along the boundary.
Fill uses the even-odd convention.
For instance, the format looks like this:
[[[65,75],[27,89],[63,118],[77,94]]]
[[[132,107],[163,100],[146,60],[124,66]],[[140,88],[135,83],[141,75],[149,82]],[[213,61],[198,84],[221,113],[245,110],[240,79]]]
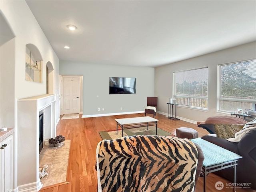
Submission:
[[[48,176],[40,179],[43,188],[66,182],[70,141],[71,140],[65,140],[60,147],[54,147],[53,145],[45,146],[40,152],[39,168],[44,164],[49,166],[46,170]]]

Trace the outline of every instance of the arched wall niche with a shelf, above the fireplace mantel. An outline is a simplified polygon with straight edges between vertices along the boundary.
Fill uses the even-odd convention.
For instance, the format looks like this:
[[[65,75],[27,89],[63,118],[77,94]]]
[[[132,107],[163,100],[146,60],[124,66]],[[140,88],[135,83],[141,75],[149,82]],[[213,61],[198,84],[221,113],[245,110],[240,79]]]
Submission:
[[[33,44],[26,44],[26,72],[27,81],[42,83],[42,56]]]

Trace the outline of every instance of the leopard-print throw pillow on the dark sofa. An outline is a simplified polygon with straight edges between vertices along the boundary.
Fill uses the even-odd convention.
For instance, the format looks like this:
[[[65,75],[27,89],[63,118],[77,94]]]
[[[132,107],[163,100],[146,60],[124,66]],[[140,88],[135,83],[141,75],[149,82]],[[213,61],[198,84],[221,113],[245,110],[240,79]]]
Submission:
[[[214,124],[217,137],[222,139],[234,138],[235,133],[240,131],[245,124]]]

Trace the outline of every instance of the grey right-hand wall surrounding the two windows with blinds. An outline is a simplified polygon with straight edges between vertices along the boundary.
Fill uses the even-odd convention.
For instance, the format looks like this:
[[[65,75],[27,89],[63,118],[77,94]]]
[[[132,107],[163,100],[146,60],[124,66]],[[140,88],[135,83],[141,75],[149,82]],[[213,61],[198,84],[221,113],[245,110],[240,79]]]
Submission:
[[[256,58],[256,42],[198,56],[188,60],[155,68],[155,96],[158,97],[158,111],[167,114],[168,98],[172,98],[172,73],[180,70],[208,67],[208,110],[177,106],[176,115],[188,122],[206,120],[209,116],[230,115],[218,113],[217,66]]]

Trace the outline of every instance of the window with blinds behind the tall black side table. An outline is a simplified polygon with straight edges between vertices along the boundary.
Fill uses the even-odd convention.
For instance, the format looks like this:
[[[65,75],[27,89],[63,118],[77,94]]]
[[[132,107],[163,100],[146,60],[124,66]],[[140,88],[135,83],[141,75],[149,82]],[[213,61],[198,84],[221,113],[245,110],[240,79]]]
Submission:
[[[183,106],[208,109],[208,68],[173,73],[174,98]]]

